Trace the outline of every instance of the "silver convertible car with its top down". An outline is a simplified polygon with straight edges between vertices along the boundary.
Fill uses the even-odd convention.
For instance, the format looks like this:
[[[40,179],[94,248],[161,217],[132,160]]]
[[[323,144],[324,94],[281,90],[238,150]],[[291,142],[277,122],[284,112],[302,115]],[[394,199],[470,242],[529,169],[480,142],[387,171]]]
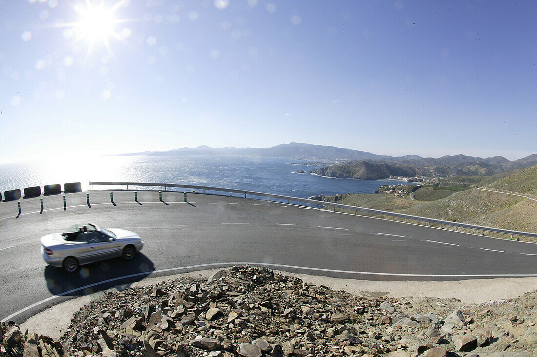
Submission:
[[[68,272],[99,260],[133,259],[142,247],[142,239],[134,232],[104,229],[91,223],[71,225],[67,232],[41,237],[41,255],[46,263]]]

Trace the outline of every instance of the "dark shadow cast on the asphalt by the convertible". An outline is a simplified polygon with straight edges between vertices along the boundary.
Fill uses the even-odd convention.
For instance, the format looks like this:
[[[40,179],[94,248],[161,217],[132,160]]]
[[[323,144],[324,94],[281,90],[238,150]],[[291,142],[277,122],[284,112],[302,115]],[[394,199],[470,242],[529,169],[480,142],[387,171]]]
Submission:
[[[140,281],[155,270],[153,262],[144,254],[137,253],[132,260],[122,258],[99,261],[82,265],[75,273],[68,273],[63,268],[48,266],[43,275],[47,288],[54,295],[82,296],[90,295],[113,286],[129,285]],[[134,276],[133,276],[134,275]],[[121,278],[127,276],[127,278]]]

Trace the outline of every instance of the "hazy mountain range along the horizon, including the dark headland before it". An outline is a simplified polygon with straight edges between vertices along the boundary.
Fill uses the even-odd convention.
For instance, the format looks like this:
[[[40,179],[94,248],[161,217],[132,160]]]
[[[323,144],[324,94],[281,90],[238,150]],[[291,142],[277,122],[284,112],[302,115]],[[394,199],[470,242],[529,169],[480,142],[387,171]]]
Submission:
[[[474,157],[467,155],[446,155],[439,158],[421,157],[418,155],[389,156],[376,155],[372,152],[337,148],[326,145],[313,145],[291,142],[271,148],[211,148],[201,145],[197,148],[179,148],[168,151],[143,151],[120,156],[196,156],[196,155],[239,155],[288,157],[302,160],[338,162],[323,168],[318,174],[331,177],[379,179],[389,174],[412,173],[422,176],[438,175],[494,175],[509,170],[519,169],[537,164],[537,154],[510,161],[503,156]],[[366,161],[366,162],[363,162]],[[350,165],[350,166],[346,166]],[[337,166],[337,167],[336,167]],[[357,172],[361,174],[357,174]],[[328,173],[328,174],[327,174]],[[388,174],[388,176],[386,176]],[[397,176],[407,176],[400,174]]]

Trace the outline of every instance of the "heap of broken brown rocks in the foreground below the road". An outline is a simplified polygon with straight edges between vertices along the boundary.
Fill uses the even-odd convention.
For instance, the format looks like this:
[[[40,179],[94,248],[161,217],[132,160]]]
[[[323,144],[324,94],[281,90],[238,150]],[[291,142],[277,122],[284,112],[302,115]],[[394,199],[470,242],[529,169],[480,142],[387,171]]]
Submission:
[[[537,292],[511,301],[358,297],[250,266],[107,293],[60,341],[2,324],[1,357],[537,353]]]

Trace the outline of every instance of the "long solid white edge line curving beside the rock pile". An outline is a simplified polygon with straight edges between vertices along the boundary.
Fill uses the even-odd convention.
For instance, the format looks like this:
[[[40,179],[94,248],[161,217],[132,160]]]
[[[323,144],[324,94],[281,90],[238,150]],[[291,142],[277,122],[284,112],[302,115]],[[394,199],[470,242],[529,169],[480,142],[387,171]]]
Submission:
[[[293,228],[289,228],[293,229]],[[38,301],[34,304],[31,304],[30,306],[25,307],[24,309],[20,309],[17,312],[13,312],[13,314],[9,315],[8,317],[4,317],[2,319],[2,322],[9,321],[13,317],[22,314],[24,311],[32,309],[34,307],[37,307],[43,303],[46,303],[51,300],[55,300],[58,297],[69,295],[72,293],[76,293],[79,291],[82,291],[84,289],[92,288],[94,286],[99,286],[101,284],[106,284],[109,282],[114,282],[122,279],[128,279],[128,278],[135,278],[136,276],[142,276],[142,275],[150,275],[155,273],[165,273],[165,272],[173,272],[178,270],[184,270],[184,269],[197,269],[197,268],[207,268],[212,266],[232,266],[232,265],[259,265],[259,266],[270,266],[270,267],[277,267],[277,268],[293,268],[293,269],[302,269],[307,271],[317,271],[317,272],[332,272],[332,273],[345,273],[345,274],[361,274],[361,275],[384,275],[384,276],[418,276],[418,277],[428,277],[428,278],[491,278],[491,277],[522,277],[522,276],[537,276],[537,274],[404,274],[404,273],[377,273],[377,272],[360,272],[360,271],[352,271],[352,270],[337,270],[337,269],[324,269],[324,268],[311,268],[311,267],[303,267],[303,266],[295,266],[295,265],[284,265],[284,264],[271,264],[271,263],[255,263],[255,262],[231,262],[231,263],[208,263],[208,264],[198,264],[198,265],[190,265],[190,266],[182,266],[182,267],[176,267],[176,268],[168,268],[168,269],[160,269],[150,272],[143,272],[143,273],[136,273],[136,274],[130,274],[130,275],[124,275],[119,276],[118,278],[112,278],[104,281],[99,281],[90,285],[86,285],[80,288],[72,289],[67,292],[63,292],[58,295],[47,297],[44,300]]]

